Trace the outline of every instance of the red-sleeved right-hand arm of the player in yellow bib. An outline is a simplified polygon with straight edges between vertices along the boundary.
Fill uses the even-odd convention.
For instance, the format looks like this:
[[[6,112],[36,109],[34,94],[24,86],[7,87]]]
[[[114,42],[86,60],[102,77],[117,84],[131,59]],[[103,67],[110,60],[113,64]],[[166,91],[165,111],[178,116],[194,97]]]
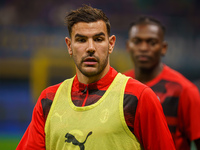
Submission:
[[[138,100],[134,133],[145,150],[175,149],[160,101],[150,88]]]

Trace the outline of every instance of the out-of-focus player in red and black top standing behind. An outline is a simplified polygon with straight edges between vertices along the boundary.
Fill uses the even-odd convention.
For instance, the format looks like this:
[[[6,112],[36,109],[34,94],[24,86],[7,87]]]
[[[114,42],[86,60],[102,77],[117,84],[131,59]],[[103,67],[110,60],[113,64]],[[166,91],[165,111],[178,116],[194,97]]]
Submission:
[[[163,107],[177,150],[200,149],[200,97],[197,87],[161,62],[166,54],[165,27],[155,18],[141,16],[129,29],[127,51],[134,69],[125,72],[148,85]]]

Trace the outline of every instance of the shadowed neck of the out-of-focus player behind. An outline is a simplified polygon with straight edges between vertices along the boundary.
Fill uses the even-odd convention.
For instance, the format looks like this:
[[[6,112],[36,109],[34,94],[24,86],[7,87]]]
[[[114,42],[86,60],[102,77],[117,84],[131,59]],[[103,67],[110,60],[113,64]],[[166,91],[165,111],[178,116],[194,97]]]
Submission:
[[[163,64],[155,66],[151,69],[141,69],[135,66],[135,79],[142,83],[146,83],[157,77],[163,69]]]

